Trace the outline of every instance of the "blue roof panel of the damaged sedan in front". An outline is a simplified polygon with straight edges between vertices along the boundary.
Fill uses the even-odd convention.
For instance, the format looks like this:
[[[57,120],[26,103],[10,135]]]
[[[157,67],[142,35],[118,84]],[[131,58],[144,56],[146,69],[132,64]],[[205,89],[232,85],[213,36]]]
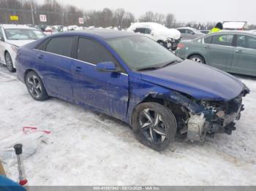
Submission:
[[[67,31],[59,34],[53,34],[53,36],[58,36],[58,35],[79,35],[79,36],[87,35],[87,36],[97,36],[102,39],[113,39],[113,38],[124,37],[124,36],[143,36],[141,34],[136,34],[136,33],[127,32],[127,31],[116,31],[113,29],[98,29],[98,28],[86,29],[83,31]]]

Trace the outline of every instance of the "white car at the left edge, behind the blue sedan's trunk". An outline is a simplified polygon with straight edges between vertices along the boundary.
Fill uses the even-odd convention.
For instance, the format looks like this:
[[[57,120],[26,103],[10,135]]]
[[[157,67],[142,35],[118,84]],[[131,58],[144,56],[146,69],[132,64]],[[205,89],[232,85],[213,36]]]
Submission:
[[[37,28],[22,25],[0,25],[0,63],[15,71],[15,57],[18,47],[44,37]]]

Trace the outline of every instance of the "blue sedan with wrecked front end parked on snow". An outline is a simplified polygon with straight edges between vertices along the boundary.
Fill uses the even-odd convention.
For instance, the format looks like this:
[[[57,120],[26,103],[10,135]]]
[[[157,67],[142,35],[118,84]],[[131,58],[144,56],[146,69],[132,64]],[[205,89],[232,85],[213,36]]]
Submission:
[[[148,37],[124,31],[47,36],[19,48],[16,67],[35,100],[60,98],[116,117],[157,151],[176,133],[192,141],[231,134],[249,93],[230,74],[182,61]]]

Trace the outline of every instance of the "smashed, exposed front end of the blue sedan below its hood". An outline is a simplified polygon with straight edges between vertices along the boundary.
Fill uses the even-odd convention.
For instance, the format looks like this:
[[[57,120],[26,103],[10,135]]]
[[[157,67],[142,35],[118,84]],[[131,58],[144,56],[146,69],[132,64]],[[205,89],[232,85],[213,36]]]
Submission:
[[[230,101],[196,100],[182,93],[173,93],[171,102],[166,104],[175,114],[178,132],[187,133],[191,141],[204,141],[206,136],[217,133],[231,135],[236,130],[236,120],[240,120],[244,110],[242,98],[249,93],[244,86],[242,92]]]

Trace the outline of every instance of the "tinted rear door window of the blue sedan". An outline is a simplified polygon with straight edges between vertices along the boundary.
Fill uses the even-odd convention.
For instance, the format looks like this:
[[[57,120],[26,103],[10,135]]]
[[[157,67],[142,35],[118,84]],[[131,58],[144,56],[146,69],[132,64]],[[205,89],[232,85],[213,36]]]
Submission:
[[[70,57],[72,50],[72,36],[61,36],[50,39],[50,42],[46,45],[45,51],[51,52],[57,55],[64,55]]]

